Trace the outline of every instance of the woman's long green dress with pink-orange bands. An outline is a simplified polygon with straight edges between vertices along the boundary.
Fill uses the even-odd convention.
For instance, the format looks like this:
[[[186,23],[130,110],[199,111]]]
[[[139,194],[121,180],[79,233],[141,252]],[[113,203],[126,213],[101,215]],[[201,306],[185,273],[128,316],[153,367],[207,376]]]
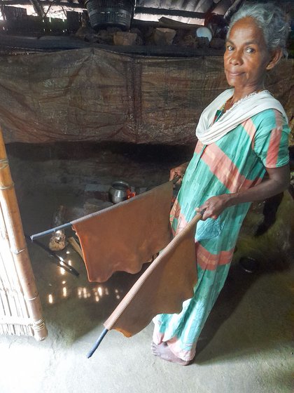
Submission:
[[[265,167],[288,164],[290,129],[280,112],[267,109],[239,124],[211,145],[197,142],[171,212],[174,234],[179,233],[211,196],[230,194],[258,185]],[[180,314],[153,319],[153,341],[167,342],[177,357],[195,356],[197,339],[228,276],[241,224],[250,203],[226,208],[217,220],[200,221],[195,234],[198,282],[192,299]],[[195,265],[196,268],[196,265]]]

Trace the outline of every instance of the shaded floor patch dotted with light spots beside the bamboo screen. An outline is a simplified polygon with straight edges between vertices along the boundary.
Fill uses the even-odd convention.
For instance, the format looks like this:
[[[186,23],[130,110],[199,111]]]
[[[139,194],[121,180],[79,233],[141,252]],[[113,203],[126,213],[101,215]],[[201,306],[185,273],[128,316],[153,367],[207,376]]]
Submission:
[[[36,245],[29,244],[29,254],[48,326],[48,337],[62,336],[63,345],[67,347],[93,331],[99,335],[104,321],[150,265],[144,264],[138,274],[116,272],[108,281],[99,284],[87,280],[83,260],[75,251],[70,251],[66,260],[70,260],[80,273],[79,277],[62,271]]]

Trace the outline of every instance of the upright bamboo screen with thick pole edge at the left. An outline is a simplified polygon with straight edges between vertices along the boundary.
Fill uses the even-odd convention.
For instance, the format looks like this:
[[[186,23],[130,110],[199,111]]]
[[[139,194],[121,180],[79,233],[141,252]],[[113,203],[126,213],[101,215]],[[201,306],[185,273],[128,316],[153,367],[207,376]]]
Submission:
[[[0,334],[47,336],[1,129]]]

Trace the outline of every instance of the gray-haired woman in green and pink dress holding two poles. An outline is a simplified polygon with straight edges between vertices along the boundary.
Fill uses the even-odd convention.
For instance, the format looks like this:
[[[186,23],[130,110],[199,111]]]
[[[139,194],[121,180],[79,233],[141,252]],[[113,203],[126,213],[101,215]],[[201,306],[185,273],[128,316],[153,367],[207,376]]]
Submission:
[[[265,90],[265,74],[285,53],[288,25],[272,4],[245,5],[230,22],[224,55],[232,86],[204,109],[190,163],[172,169],[183,178],[172,208],[177,234],[202,211],[195,250],[198,283],[180,314],[153,320],[155,356],[186,365],[228,276],[237,236],[253,201],[283,192],[289,182],[288,128],[283,107]],[[262,178],[267,173],[267,180]]]

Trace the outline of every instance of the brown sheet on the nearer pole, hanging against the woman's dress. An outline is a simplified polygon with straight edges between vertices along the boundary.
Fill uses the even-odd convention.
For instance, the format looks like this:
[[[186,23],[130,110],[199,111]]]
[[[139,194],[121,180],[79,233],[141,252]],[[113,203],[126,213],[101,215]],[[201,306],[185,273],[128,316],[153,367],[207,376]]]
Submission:
[[[181,312],[197,283],[195,218],[169,243],[132,286],[104,326],[126,337],[139,333],[157,314]]]

